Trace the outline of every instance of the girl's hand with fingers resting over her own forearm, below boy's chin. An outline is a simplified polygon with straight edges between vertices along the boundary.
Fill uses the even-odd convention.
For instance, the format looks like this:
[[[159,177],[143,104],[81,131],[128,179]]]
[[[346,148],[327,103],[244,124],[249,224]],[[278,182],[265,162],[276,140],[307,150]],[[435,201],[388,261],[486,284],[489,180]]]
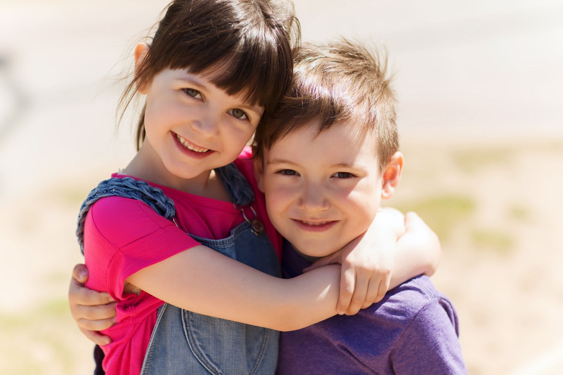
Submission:
[[[338,314],[354,315],[385,296],[391,281],[397,238],[405,232],[404,216],[390,208],[380,209],[368,231],[334,254],[307,267],[342,264]]]

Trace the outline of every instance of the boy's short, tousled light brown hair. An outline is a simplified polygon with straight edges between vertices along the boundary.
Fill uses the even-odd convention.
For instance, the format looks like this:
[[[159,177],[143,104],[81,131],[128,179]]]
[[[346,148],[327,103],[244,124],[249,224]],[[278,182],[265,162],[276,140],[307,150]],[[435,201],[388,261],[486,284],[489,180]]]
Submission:
[[[319,133],[344,121],[375,132],[383,170],[399,148],[396,101],[389,87],[385,54],[342,38],[324,44],[303,43],[293,64],[291,88],[256,130],[257,156],[263,147],[269,150],[311,121],[319,121]]]

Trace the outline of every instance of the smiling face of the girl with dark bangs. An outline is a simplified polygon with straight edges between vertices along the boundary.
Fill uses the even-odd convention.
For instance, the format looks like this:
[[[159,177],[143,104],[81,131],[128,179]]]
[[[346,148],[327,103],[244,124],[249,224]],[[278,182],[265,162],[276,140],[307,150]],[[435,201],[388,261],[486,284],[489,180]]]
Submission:
[[[245,102],[243,94],[230,96],[206,76],[166,69],[138,90],[147,95],[145,142],[180,178],[194,178],[235,160],[263,113],[262,107]]]

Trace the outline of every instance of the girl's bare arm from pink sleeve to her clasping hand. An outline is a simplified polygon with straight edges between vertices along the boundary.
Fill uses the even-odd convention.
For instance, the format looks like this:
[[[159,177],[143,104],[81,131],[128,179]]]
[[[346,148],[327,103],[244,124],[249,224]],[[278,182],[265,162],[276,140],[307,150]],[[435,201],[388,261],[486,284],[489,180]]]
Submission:
[[[127,282],[182,309],[278,331],[336,314],[340,266],[293,279],[262,273],[203,245],[138,270]]]

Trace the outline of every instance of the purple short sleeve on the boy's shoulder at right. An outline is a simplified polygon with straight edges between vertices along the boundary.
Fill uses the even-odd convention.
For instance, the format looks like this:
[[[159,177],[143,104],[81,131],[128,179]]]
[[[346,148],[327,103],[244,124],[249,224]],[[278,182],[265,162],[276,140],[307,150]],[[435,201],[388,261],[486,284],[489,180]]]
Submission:
[[[453,306],[448,301],[429,301],[391,351],[395,373],[467,374],[456,327]]]

